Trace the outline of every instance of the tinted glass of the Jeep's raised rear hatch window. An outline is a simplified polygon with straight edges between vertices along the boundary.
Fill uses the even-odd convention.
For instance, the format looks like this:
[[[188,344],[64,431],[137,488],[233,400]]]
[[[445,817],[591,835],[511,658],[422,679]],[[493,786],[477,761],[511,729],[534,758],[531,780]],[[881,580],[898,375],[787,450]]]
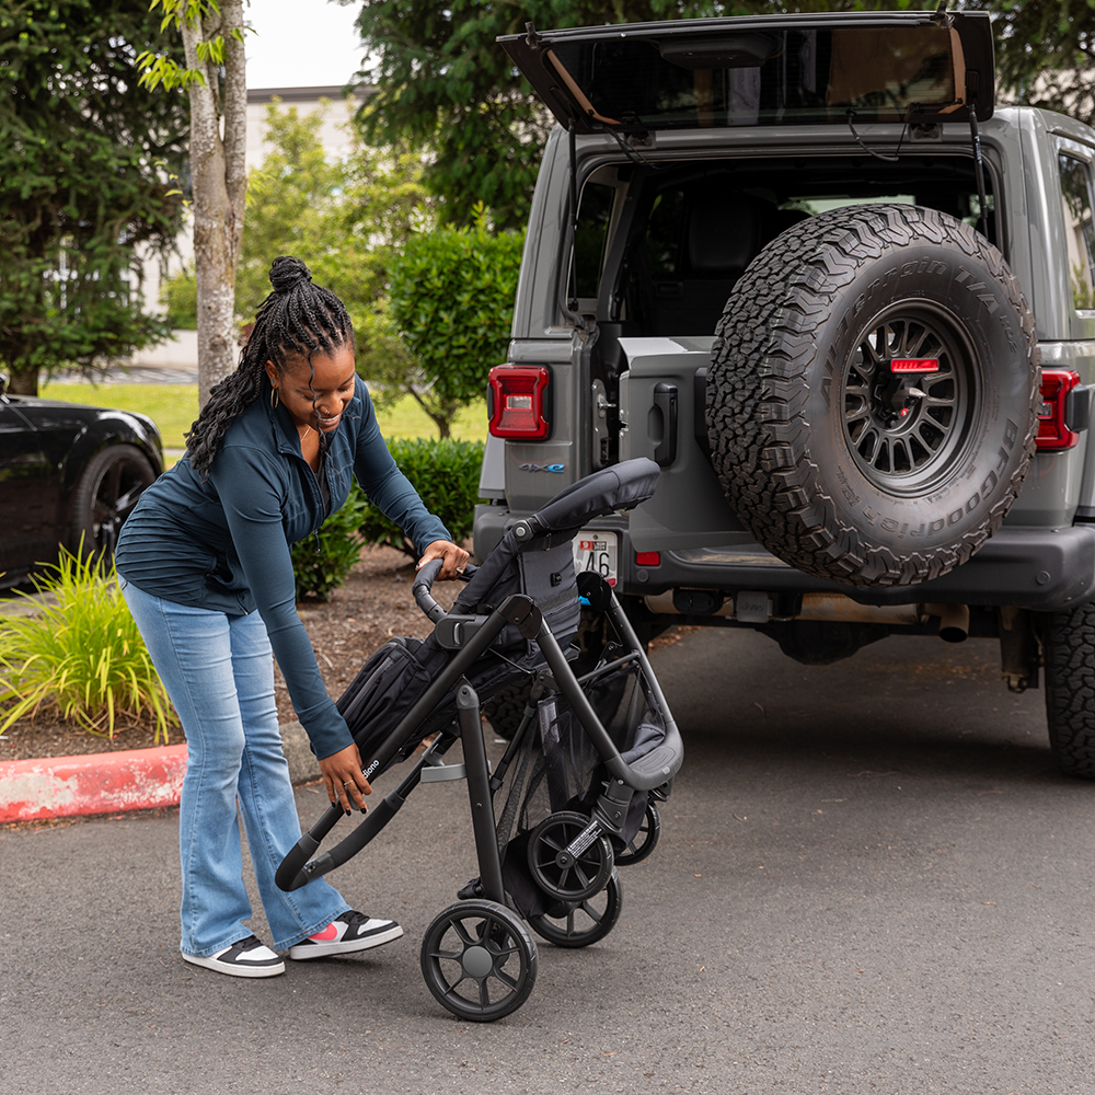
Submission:
[[[744,30],[561,43],[551,56],[607,123],[831,123],[850,110],[861,122],[900,122],[911,108],[957,105],[953,41],[940,26]]]

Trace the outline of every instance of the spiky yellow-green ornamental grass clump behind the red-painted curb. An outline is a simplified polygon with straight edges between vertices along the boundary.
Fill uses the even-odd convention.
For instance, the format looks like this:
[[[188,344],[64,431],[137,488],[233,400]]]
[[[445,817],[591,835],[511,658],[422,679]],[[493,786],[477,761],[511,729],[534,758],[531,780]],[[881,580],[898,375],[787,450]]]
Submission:
[[[56,708],[92,734],[114,737],[117,719],[155,721],[168,741],[177,724],[145,641],[114,579],[93,560],[61,551],[51,574],[35,578],[56,603],[31,616],[10,616],[0,629],[0,733],[43,708]],[[22,595],[28,597],[30,595]]]

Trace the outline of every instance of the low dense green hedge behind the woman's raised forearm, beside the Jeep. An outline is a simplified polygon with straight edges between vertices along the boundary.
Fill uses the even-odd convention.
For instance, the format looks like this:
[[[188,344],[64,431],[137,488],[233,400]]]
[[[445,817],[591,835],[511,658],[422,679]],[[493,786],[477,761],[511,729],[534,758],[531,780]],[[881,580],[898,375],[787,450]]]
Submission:
[[[452,539],[460,543],[471,535],[483,442],[395,438],[388,442],[388,448],[423,504],[441,519]],[[368,543],[395,548],[411,558],[418,557],[403,530],[369,502],[365,503],[360,529]]]

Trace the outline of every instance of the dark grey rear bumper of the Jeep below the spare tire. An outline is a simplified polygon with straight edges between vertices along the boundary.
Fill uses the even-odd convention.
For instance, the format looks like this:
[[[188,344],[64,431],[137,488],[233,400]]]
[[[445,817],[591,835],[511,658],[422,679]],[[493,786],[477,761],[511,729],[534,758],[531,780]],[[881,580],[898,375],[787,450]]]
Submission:
[[[525,516],[525,515],[522,515]],[[516,518],[504,506],[475,511],[475,552],[483,557]],[[754,543],[664,551],[658,566],[637,566],[625,518],[593,522],[620,533],[620,587],[632,596],[671,589],[741,590],[773,596],[842,593],[861,604],[1011,606],[1052,612],[1095,597],[1095,525],[1062,529],[1003,528],[965,566],[918,586],[861,588],[826,581],[771,555]]]

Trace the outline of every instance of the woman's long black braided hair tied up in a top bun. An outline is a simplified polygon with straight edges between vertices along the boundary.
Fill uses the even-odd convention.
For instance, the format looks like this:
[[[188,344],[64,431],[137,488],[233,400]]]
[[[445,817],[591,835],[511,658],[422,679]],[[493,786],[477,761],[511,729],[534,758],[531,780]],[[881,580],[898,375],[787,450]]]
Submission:
[[[269,278],[274,291],[258,306],[239,366],[209,393],[186,435],[186,454],[206,480],[228,427],[258,399],[267,361],[284,377],[290,358],[303,358],[311,368],[314,353],[332,356],[354,342],[343,302],[330,289],[313,285],[299,258],[279,255],[270,264]]]

